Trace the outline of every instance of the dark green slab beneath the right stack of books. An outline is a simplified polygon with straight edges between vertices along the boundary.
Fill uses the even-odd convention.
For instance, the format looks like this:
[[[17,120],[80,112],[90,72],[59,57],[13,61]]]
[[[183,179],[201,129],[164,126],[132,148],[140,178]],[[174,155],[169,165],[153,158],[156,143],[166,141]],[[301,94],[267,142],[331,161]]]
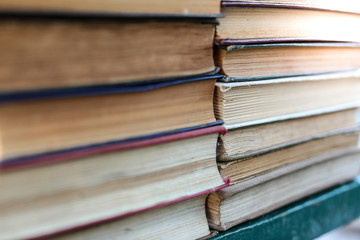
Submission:
[[[277,240],[294,237],[316,239],[322,234],[358,218],[360,214],[359,194],[360,177],[357,176],[344,184],[326,189],[252,221],[235,226],[220,233],[212,240],[226,238]]]

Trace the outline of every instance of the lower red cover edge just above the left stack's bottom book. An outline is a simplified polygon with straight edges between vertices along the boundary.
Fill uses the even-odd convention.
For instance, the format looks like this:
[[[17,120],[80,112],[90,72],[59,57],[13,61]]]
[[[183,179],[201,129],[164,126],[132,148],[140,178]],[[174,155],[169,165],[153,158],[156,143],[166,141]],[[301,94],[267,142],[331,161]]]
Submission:
[[[218,187],[214,187],[214,188],[211,188],[211,189],[208,189],[206,191],[199,192],[199,193],[196,193],[196,194],[193,194],[193,195],[190,195],[190,196],[185,196],[185,197],[181,197],[181,198],[178,198],[178,199],[175,199],[175,200],[158,203],[158,204],[155,204],[155,205],[150,206],[150,207],[142,208],[142,209],[135,210],[135,211],[130,211],[130,212],[119,214],[119,215],[116,215],[116,216],[113,216],[113,217],[104,218],[104,219],[101,219],[101,220],[98,220],[98,221],[89,222],[89,223],[77,225],[77,226],[74,226],[74,227],[69,227],[69,228],[62,229],[62,230],[59,230],[59,231],[56,231],[56,232],[52,232],[52,233],[48,233],[48,234],[45,234],[45,235],[36,236],[36,237],[32,237],[32,238],[27,238],[27,239],[28,240],[48,239],[48,238],[51,238],[51,237],[59,236],[59,235],[62,235],[62,234],[73,232],[73,231],[82,230],[84,228],[94,227],[96,225],[104,224],[104,223],[111,222],[111,221],[116,221],[116,220],[119,220],[121,218],[128,217],[128,216],[131,216],[131,215],[134,215],[134,214],[139,214],[139,213],[142,213],[142,212],[146,212],[146,211],[149,211],[151,209],[165,207],[165,206],[168,206],[168,205],[171,205],[171,204],[186,201],[186,200],[189,200],[189,199],[192,199],[192,198],[195,198],[195,197],[199,197],[199,196],[202,196],[202,195],[207,195],[207,194],[210,194],[212,192],[215,192],[215,191],[221,190],[223,188],[226,188],[228,186],[230,186],[230,179],[226,178],[226,179],[224,179],[224,184],[223,185],[218,186]]]

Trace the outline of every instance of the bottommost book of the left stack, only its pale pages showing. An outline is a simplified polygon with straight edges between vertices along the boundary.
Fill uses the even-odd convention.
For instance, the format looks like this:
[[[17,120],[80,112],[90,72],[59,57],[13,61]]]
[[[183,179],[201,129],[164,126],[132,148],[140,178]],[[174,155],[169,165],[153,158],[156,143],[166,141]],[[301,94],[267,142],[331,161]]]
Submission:
[[[199,239],[210,236],[205,197],[70,232],[52,239]],[[202,238],[205,239],[205,238]]]

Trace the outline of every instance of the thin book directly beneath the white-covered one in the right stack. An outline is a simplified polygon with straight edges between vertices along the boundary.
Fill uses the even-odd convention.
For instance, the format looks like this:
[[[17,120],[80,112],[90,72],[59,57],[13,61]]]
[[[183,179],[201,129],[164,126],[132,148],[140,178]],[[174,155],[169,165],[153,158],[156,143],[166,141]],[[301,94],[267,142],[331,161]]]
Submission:
[[[256,156],[357,128],[356,109],[230,129],[220,135],[217,160],[232,161]]]

